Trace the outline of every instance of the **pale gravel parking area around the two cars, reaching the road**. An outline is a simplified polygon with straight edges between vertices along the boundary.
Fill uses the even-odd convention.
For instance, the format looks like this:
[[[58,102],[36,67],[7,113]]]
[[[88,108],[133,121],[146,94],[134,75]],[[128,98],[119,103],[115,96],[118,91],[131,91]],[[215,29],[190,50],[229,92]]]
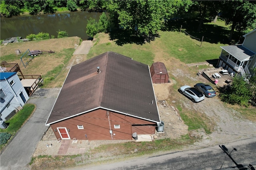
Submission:
[[[180,69],[173,70],[172,74],[176,78],[186,78],[192,81],[209,83],[203,76],[192,77]],[[183,96],[182,107],[205,113],[216,123],[214,132],[210,135],[206,135],[204,132],[198,132],[203,138],[202,141],[194,143],[195,146],[209,147],[216,144],[256,137],[256,122],[243,119],[240,113],[225,107],[225,104],[220,101],[218,96],[205,98],[199,103],[193,103]]]

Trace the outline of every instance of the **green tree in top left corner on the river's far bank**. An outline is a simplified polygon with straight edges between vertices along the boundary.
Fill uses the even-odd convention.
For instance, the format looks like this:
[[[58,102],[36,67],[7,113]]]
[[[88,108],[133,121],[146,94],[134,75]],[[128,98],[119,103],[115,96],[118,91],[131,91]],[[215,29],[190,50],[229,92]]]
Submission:
[[[20,0],[1,0],[0,1],[0,13],[1,16],[11,17],[18,16],[23,12],[23,1]]]

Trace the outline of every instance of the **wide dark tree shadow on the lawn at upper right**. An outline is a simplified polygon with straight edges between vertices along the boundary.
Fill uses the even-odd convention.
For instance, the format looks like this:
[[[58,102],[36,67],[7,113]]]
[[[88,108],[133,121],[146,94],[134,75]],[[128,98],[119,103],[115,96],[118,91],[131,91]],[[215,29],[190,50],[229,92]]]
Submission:
[[[210,22],[209,20],[204,20],[204,23]],[[223,44],[232,44],[228,41],[228,37],[230,35],[230,30],[226,27],[218,26],[216,24],[203,24],[201,30],[199,32],[196,31],[199,24],[198,18],[182,18],[178,20],[168,20],[162,31],[178,31],[180,32],[180,28],[182,25],[182,30],[185,30],[187,33],[192,35],[193,37],[197,37],[200,41],[203,38],[203,41],[208,43],[223,43]],[[233,44],[242,43],[243,39],[241,38],[241,34],[238,32],[234,32],[233,35]]]

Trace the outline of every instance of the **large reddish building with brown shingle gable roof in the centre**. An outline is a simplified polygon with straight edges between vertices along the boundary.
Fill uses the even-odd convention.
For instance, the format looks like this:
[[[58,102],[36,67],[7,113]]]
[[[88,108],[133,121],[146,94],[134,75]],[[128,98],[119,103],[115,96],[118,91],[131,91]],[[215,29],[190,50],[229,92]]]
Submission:
[[[160,116],[148,65],[106,52],[70,68],[46,121],[57,139],[130,140]]]

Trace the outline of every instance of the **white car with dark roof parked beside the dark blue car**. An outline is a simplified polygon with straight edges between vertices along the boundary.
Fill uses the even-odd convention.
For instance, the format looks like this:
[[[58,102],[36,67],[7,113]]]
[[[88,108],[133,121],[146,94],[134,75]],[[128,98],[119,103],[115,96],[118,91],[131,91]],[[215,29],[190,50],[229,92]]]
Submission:
[[[178,91],[190,98],[194,103],[204,100],[204,94],[194,87],[182,86]]]

